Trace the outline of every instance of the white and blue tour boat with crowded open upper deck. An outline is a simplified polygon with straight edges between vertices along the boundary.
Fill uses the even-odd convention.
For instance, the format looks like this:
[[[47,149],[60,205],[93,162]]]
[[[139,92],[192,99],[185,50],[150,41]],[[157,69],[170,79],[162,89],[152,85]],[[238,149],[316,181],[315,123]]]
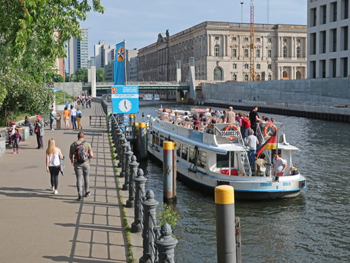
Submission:
[[[163,142],[176,142],[176,169],[185,181],[209,189],[228,184],[234,187],[236,198],[254,200],[294,197],[306,188],[304,176],[299,172],[290,175],[293,152],[299,149],[286,142],[283,123],[260,123],[258,127],[262,143],[276,131],[277,150],[287,163],[283,176],[274,176],[271,166],[267,166],[267,177],[260,177],[254,176],[238,123],[218,123],[220,117],[213,116],[207,123],[209,119],[217,119],[216,124],[200,123],[194,127],[187,117],[175,120],[174,116],[161,114],[158,110],[158,116],[151,117],[148,123],[148,152],[162,161]],[[271,160],[272,151],[263,152]]]

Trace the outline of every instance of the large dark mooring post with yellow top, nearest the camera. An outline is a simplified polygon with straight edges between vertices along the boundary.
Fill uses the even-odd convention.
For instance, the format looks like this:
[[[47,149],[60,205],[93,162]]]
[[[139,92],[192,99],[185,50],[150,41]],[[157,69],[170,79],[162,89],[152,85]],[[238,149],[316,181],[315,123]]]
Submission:
[[[236,263],[235,194],[230,185],[215,187],[218,263]]]

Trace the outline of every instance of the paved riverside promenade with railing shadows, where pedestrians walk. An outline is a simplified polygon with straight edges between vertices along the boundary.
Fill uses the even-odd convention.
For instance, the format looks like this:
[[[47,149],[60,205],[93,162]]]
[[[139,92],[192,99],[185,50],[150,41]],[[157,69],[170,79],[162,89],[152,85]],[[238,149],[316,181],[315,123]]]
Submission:
[[[76,201],[76,176],[69,161],[69,146],[78,131],[45,128],[44,149],[36,149],[34,135],[20,143],[20,154],[7,149],[0,158],[1,262],[127,262],[106,126],[89,126],[90,115],[103,115],[101,106],[92,103],[92,109],[83,110],[85,140],[94,151],[91,196],[83,201]],[[50,138],[66,156],[57,195],[45,170]]]

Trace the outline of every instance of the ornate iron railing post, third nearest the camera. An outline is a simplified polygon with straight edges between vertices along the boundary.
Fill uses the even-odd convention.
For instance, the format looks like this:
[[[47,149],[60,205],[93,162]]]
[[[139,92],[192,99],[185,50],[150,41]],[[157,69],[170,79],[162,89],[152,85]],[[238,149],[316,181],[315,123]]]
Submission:
[[[145,192],[145,184],[147,182],[147,178],[144,177],[144,171],[139,168],[137,169],[137,177],[134,178],[135,182],[135,209],[134,209],[134,222],[132,223],[132,233],[137,233],[142,231],[142,201],[144,198],[143,193]]]

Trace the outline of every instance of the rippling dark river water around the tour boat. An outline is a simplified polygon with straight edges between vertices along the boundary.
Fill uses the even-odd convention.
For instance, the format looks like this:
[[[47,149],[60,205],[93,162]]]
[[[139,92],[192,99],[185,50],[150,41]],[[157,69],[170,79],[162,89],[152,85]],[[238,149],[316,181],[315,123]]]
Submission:
[[[160,103],[190,109],[169,102],[140,102],[137,121],[142,121],[142,112],[154,116]],[[306,177],[307,189],[285,200],[235,201],[242,262],[350,262],[350,124],[274,116],[286,124],[287,142],[300,149],[293,163]],[[141,168],[147,189],[162,202],[162,166],[148,160]],[[178,181],[177,198],[174,209],[181,220],[174,229],[179,239],[176,262],[217,262],[214,196]]]

